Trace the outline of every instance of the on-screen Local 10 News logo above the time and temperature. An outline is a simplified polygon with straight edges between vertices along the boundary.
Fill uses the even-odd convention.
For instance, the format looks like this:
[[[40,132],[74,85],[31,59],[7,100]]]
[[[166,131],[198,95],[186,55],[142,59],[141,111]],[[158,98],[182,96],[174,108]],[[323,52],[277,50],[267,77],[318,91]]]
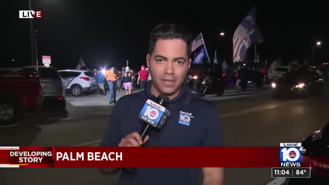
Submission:
[[[301,143],[280,143],[280,167],[300,167],[305,152]]]

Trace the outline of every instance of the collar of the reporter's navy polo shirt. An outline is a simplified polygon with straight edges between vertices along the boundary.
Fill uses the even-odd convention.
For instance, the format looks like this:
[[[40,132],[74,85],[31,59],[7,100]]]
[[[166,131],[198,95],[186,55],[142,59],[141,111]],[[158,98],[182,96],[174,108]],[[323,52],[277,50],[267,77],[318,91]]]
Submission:
[[[147,82],[146,84],[146,88],[145,88],[145,93],[147,98],[155,100],[157,97],[155,97],[152,93],[151,93],[151,82]],[[169,104],[174,103],[174,102],[178,102],[180,104],[184,104],[187,105],[189,103],[189,94],[188,94],[188,90],[186,85],[182,85],[182,89],[179,92],[178,96],[169,100]]]

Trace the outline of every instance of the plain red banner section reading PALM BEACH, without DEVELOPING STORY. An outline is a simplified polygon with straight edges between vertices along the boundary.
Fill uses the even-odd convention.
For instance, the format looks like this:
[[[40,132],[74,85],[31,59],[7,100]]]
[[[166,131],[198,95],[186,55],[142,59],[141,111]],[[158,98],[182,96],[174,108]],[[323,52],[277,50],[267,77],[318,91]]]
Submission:
[[[279,147],[54,147],[54,167],[279,167]]]

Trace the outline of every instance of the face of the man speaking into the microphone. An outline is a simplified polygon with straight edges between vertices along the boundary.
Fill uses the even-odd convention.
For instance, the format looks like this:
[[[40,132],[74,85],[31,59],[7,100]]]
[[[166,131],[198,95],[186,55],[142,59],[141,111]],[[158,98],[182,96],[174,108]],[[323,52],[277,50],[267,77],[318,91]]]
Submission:
[[[180,39],[158,40],[152,56],[146,55],[152,85],[159,93],[172,95],[184,83],[191,64],[186,48]]]

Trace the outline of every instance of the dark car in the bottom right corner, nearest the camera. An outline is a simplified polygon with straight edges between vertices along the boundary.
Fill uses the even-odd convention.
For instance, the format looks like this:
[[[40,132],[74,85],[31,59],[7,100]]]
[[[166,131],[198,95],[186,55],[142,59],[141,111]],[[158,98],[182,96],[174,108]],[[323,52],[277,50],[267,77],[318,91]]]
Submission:
[[[310,178],[287,178],[285,185],[328,184],[329,182],[329,122],[302,141],[302,167],[310,168]]]

